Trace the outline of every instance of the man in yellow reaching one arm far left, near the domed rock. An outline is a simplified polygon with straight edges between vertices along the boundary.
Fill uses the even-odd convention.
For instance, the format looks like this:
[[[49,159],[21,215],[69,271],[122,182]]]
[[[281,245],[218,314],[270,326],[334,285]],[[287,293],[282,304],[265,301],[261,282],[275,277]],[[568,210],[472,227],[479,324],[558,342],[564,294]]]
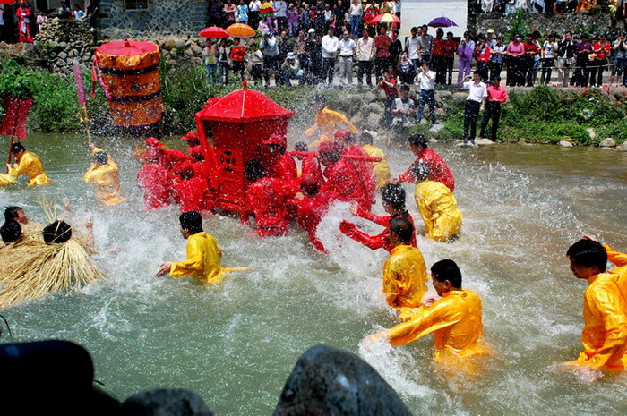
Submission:
[[[460,268],[453,260],[435,263],[431,277],[440,299],[415,310],[408,321],[370,336],[383,336],[399,346],[433,333],[435,361],[470,369],[466,359],[490,352],[483,341],[481,298],[475,291],[462,289]]]

